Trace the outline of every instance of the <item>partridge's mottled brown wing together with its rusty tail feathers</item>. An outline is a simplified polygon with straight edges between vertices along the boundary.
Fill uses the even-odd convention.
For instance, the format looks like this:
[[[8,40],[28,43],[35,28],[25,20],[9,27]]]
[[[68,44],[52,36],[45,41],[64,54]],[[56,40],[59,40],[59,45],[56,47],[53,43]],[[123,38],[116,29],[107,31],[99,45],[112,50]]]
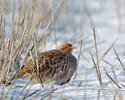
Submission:
[[[62,63],[65,57],[65,53],[59,50],[51,50],[38,54],[38,65],[40,71],[43,72],[50,67],[54,67],[55,65]],[[36,61],[36,57],[34,56],[34,61]],[[32,59],[30,59],[14,76],[13,79],[26,77],[26,74],[34,73],[36,71]]]

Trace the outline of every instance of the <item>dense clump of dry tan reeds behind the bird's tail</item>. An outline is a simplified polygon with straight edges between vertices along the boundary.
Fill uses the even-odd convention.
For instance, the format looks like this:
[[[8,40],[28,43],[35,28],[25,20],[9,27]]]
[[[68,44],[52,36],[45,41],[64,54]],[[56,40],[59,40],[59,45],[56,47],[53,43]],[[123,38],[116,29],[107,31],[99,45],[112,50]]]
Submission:
[[[0,84],[7,85],[30,54],[45,48],[66,2],[60,0],[54,8],[53,0],[0,0]]]

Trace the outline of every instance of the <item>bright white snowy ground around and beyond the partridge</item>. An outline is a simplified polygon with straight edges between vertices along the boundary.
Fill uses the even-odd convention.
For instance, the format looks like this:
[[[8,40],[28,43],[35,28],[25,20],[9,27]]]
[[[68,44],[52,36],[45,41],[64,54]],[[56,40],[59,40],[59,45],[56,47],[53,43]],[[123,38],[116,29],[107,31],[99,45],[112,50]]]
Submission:
[[[84,48],[91,47],[94,45],[92,25],[96,29],[97,42],[103,41],[103,43],[98,45],[99,57],[101,57],[113,41],[118,38],[114,47],[119,54],[121,61],[125,64],[125,10],[124,3],[122,3],[124,0],[121,0],[120,2],[120,20],[117,14],[118,5],[116,4],[116,1],[117,0],[70,0],[65,14],[57,24],[58,27],[56,27],[57,38],[59,40],[58,45],[64,40],[72,40],[76,37],[76,40],[72,41],[75,43],[75,46],[78,46],[79,41],[83,40]],[[66,26],[67,23],[68,26]],[[64,35],[60,36],[60,33],[63,33]],[[52,43],[48,41],[47,50],[54,49],[54,47],[50,48]],[[89,50],[96,58],[94,46],[89,48]],[[75,50],[73,54],[77,57],[78,52],[79,49]],[[52,100],[113,100],[113,98],[116,98],[116,100],[124,100],[125,87],[123,85],[125,85],[125,72],[115,58],[115,53],[113,49],[111,49],[104,59],[115,66],[113,67],[113,70],[115,71],[116,79],[113,76],[111,66],[103,61],[100,63],[103,82],[103,87],[100,87],[96,71],[92,67],[93,62],[90,54],[83,49],[75,82],[72,83],[71,80],[64,86],[54,86],[54,89],[57,90],[52,93]],[[105,70],[113,79],[117,80],[121,89],[114,83],[112,85],[111,81],[106,76]],[[2,90],[3,87],[4,86],[1,86],[0,89]],[[39,88],[39,84],[30,84],[26,90],[29,90],[30,94]],[[5,89],[8,88],[6,87]],[[9,92],[9,96],[17,96],[21,89],[22,87],[16,89],[13,87]],[[50,89],[51,88],[49,87],[44,92],[41,92],[41,94],[38,97],[35,97],[34,100],[42,99]],[[23,93],[23,95],[24,94],[25,93]]]

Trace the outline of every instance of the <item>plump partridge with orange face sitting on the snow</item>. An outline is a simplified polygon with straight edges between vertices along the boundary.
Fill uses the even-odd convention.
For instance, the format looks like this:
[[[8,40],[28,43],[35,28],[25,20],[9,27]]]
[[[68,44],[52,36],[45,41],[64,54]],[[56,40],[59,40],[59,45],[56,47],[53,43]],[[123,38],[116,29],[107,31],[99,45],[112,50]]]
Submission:
[[[41,80],[47,84],[51,82],[56,85],[68,83],[77,67],[77,59],[72,55],[73,49],[75,48],[72,43],[66,42],[57,49],[39,53],[37,57],[34,56],[33,59],[28,60],[11,81],[18,78],[31,78],[37,72],[33,60],[38,59],[39,75],[34,75],[31,80],[33,84],[41,83]]]

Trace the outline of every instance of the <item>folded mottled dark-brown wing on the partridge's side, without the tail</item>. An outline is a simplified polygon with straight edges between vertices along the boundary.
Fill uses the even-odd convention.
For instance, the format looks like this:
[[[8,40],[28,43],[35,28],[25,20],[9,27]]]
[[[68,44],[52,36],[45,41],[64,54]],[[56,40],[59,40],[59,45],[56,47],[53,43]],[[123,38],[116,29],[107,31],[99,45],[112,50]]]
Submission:
[[[66,54],[59,50],[51,50],[45,54],[39,54],[38,62],[41,71],[54,68],[64,63]]]

